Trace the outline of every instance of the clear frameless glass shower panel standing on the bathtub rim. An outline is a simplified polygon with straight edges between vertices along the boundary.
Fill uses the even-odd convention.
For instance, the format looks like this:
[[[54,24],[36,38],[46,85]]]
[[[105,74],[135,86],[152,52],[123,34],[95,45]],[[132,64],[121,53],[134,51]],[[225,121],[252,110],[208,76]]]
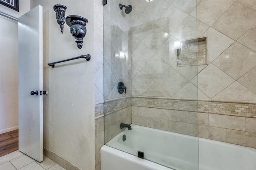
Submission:
[[[132,6],[129,14],[125,13],[124,8],[120,10],[117,4],[119,1],[110,1],[110,4],[104,6],[105,143],[122,131],[116,128],[124,120],[121,117],[126,117],[128,124],[131,122],[132,125],[153,128],[157,132],[162,130],[163,134],[166,131],[176,134],[173,138],[177,140],[162,136],[161,132],[156,134],[155,138],[161,141],[159,145],[162,148],[147,148],[142,144],[141,147],[146,147],[140,150],[145,153],[145,159],[174,169],[192,167],[196,170],[198,38],[197,19],[193,13],[197,2],[130,0],[124,4]],[[122,53],[124,49],[125,55]],[[122,63],[122,58],[127,57],[127,54],[128,67]],[[127,69],[128,74],[126,79],[120,79],[124,69]],[[128,95],[120,95],[114,90],[120,80],[127,84]],[[116,99],[130,102],[128,106],[131,108],[121,111],[122,108],[117,108],[117,102],[111,110],[108,99],[111,102]],[[125,133],[136,133],[135,129],[126,130]],[[183,139],[179,141],[181,136]],[[122,142],[122,136],[118,140]],[[118,148],[113,142],[110,143],[112,147]],[[140,149],[140,144],[134,144],[135,151],[128,149],[125,152],[137,155],[136,149]],[[162,150],[164,154],[157,150]],[[156,157],[147,156],[150,152]],[[167,157],[167,161],[164,157]]]

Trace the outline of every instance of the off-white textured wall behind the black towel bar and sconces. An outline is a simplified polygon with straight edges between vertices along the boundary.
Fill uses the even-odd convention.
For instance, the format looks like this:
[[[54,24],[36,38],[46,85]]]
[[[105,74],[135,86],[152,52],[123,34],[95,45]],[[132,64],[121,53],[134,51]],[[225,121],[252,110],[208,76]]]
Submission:
[[[44,97],[44,148],[77,168],[94,169],[94,1],[39,0],[31,1],[31,8],[38,4],[43,7],[44,89],[49,92]],[[88,19],[82,49],[67,24],[60,32],[56,4],[67,6],[66,16]],[[90,61],[47,65],[86,54],[91,54]]]

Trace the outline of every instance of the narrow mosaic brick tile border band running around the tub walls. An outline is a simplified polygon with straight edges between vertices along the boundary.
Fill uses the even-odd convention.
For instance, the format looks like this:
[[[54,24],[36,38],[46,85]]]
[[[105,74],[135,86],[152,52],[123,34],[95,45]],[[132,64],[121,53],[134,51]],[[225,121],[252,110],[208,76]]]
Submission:
[[[256,101],[230,101],[211,99],[197,100],[142,96],[122,97],[106,100],[104,108],[102,108],[102,106],[97,106],[95,108],[95,114],[97,116],[103,115],[103,113],[110,114],[129,106],[256,118]],[[102,109],[104,109],[104,111],[102,111]]]

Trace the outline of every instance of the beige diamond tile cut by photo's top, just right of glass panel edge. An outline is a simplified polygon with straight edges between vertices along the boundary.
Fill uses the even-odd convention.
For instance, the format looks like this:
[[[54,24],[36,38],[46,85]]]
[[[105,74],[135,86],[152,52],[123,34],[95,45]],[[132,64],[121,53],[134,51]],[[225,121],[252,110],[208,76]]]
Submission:
[[[197,18],[212,26],[233,3],[232,0],[203,0],[197,6]]]

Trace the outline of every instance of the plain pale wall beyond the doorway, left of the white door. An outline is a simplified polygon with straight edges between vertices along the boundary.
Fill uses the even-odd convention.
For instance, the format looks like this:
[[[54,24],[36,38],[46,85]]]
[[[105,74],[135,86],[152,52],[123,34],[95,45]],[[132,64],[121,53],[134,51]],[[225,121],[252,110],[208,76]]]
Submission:
[[[0,134],[18,129],[18,22],[0,16]]]

